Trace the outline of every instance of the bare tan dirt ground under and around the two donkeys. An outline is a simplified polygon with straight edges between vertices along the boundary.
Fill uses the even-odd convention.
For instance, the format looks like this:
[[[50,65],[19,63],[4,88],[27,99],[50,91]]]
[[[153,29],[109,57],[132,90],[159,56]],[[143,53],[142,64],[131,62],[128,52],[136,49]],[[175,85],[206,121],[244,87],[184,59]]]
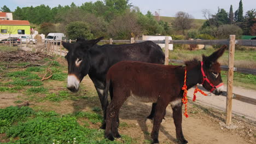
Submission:
[[[83,80],[82,85],[86,88],[93,88],[93,83],[88,76]],[[85,91],[80,89],[80,91]],[[95,91],[95,97],[96,97]],[[22,94],[16,93],[0,93],[0,108],[4,108],[14,104],[14,101],[19,100]],[[89,103],[90,102],[90,103]],[[224,114],[221,111],[214,110],[214,116],[203,112],[203,109],[193,108],[192,101],[189,101],[189,118],[183,116],[183,133],[185,139],[189,143],[256,143],[255,140],[255,122],[249,120],[234,120],[236,129],[227,129],[224,122]],[[31,103],[31,107],[39,110],[54,110],[58,113],[66,114],[75,111],[90,111],[91,107],[100,107],[100,101],[96,98],[90,100],[72,101],[66,100],[60,103],[43,102]],[[120,127],[119,132],[122,135],[128,135],[140,143],[145,140],[150,140],[150,132],[152,123],[146,123],[146,117],[151,109],[151,104],[142,103],[128,99],[120,110],[120,122],[127,123],[125,127]],[[209,108],[212,109],[212,108]],[[193,112],[196,111],[196,112]],[[217,112],[216,112],[217,111]],[[210,111],[211,112],[211,111]],[[215,118],[214,118],[215,117]],[[220,117],[220,118],[216,118]],[[222,117],[222,118],[221,118]],[[159,140],[161,143],[177,143],[175,127],[172,119],[171,107],[167,107],[166,121],[162,123],[160,128]],[[250,124],[252,124],[250,126]],[[250,135],[251,134],[251,135]],[[253,136],[253,135],[254,136]]]

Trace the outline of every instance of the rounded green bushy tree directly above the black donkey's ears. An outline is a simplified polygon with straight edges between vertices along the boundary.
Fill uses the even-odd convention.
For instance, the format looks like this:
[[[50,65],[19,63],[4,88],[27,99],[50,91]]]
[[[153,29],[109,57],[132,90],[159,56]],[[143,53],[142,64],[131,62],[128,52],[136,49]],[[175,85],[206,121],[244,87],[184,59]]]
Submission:
[[[66,26],[66,35],[69,39],[85,38],[92,39],[93,35],[88,28],[88,25],[82,21],[74,21]]]

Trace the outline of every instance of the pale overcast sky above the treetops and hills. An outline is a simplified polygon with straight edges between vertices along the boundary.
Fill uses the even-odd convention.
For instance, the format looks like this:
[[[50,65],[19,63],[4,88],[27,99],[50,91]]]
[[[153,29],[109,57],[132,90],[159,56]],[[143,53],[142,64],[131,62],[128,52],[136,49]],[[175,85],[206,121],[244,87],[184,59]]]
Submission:
[[[84,2],[96,2],[97,0],[1,0],[0,8],[3,5],[7,5],[11,11],[14,11],[16,7],[33,7],[45,4],[49,5],[51,8],[56,7],[57,5],[70,5],[74,2],[76,5],[80,6]],[[102,0],[103,1],[103,0]],[[233,11],[237,10],[240,0],[130,0],[132,5],[139,7],[143,14],[146,14],[147,11],[151,11],[154,14],[154,11],[160,10],[160,16],[174,16],[178,11],[185,11],[195,19],[203,19],[202,10],[209,9],[212,14],[216,13],[219,8],[225,9],[229,12],[230,5],[233,6]],[[256,0],[242,0],[243,2],[243,14],[245,15],[246,11],[251,9],[256,9]]]

